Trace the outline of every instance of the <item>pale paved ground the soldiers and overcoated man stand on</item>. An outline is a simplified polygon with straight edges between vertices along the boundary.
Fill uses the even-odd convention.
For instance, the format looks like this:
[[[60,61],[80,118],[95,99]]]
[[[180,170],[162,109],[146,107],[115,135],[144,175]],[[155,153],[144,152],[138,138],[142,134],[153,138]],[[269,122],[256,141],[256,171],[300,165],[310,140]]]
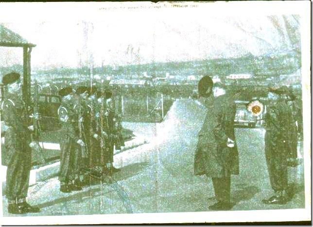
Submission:
[[[176,101],[165,121],[156,126],[157,136],[150,144],[115,155],[122,171],[113,176],[113,182],[64,194],[59,192],[57,178],[51,178],[30,188],[29,202],[41,208],[39,215],[209,211],[215,202],[212,182],[193,175],[196,134],[203,118],[204,110],[192,100]],[[232,177],[233,210],[304,208],[303,165],[289,169],[289,182],[295,186],[290,202],[261,203],[272,193],[263,136],[264,130],[236,129],[241,172]],[[300,145],[299,155],[303,155]],[[7,216],[4,197],[3,207]]]

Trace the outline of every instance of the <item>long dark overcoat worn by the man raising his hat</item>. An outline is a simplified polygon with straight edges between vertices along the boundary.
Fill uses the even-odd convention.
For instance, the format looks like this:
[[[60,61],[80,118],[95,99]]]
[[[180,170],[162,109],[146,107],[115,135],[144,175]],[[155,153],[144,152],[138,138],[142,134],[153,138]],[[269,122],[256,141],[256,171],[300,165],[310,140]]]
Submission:
[[[214,99],[199,132],[194,157],[194,174],[223,178],[239,174],[239,158],[234,133],[236,105],[228,95]],[[227,147],[227,139],[235,142]]]

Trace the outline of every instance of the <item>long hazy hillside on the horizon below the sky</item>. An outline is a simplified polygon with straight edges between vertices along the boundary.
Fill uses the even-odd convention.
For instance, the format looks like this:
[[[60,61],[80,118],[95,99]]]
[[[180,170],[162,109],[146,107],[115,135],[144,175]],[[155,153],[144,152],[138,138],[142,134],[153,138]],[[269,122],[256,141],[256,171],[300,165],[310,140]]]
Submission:
[[[189,62],[167,62],[151,63],[143,65],[124,65],[112,67],[104,65],[94,67],[94,75],[143,75],[164,77],[166,73],[173,76],[186,77],[189,75],[219,75],[227,76],[232,73],[250,73],[255,76],[279,76],[280,74],[291,74],[301,67],[301,53],[293,51],[277,55],[266,55],[255,57],[251,54],[240,58],[211,59]],[[11,71],[22,74],[22,65],[11,67],[1,67],[1,74],[4,75]],[[36,70],[33,73],[38,75],[60,75],[70,76],[73,74],[89,75],[89,68],[54,68],[50,70]]]

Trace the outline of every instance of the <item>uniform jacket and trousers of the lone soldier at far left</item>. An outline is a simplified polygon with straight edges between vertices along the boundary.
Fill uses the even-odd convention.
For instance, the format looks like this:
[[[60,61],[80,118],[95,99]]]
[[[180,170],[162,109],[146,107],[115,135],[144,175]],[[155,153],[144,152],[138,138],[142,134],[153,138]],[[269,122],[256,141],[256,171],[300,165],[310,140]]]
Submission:
[[[15,94],[6,94],[1,104],[6,150],[6,197],[14,200],[27,196],[32,150],[28,114],[23,100]]]

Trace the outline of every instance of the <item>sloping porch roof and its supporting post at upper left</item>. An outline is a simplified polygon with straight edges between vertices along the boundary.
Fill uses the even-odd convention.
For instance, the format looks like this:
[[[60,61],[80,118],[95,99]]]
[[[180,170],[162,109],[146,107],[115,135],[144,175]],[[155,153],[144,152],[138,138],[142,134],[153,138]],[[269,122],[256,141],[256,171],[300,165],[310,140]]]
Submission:
[[[26,103],[30,103],[31,98],[31,52],[35,44],[29,43],[19,34],[0,24],[0,47],[23,48],[23,88],[22,96]],[[3,75],[2,75],[3,76]],[[2,93],[1,89],[1,93]],[[1,97],[3,94],[1,94]]]

